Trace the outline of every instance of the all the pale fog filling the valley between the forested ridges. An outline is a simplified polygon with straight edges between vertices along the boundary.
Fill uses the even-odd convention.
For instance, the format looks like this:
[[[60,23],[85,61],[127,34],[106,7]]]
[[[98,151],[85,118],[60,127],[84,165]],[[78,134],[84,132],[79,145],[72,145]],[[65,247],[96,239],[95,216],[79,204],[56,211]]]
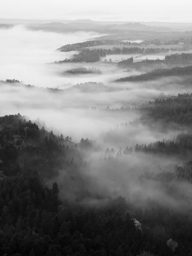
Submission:
[[[161,204],[183,205],[183,202],[169,197],[160,183],[154,181],[150,183],[147,179],[143,183],[140,181],[140,176],[146,172],[153,175],[162,171],[166,172],[167,166],[169,166],[168,170],[174,170],[175,164],[180,164],[181,161],[162,155],[151,157],[144,153],[122,156],[120,159],[114,158],[111,162],[103,158],[99,160],[99,157],[106,148],[114,148],[118,152],[119,147],[122,147],[123,151],[126,146],[134,148],[136,143],[149,144],[162,140],[163,137],[173,140],[178,131],[171,129],[167,129],[166,132],[157,131],[140,121],[137,124],[131,123],[140,118],[141,113],[138,110],[130,109],[121,112],[110,109],[121,106],[130,107],[134,103],[141,105],[154,100],[162,92],[177,95],[177,93],[186,92],[186,88],[180,88],[179,78],[166,78],[145,83],[113,82],[123,76],[140,74],[133,71],[125,73],[113,63],[82,64],[83,67],[100,69],[102,74],[70,76],[64,75],[63,72],[79,64],[46,64],[70,58],[75,53],[55,51],[58,47],[85,41],[91,37],[96,37],[96,34],[91,32],[73,34],[37,32],[28,31],[23,26],[0,30],[0,55],[2,56],[0,79],[18,79],[23,81],[23,84],[35,86],[26,87],[20,83],[0,82],[0,116],[20,113],[29,116],[31,120],[39,117],[42,122],[45,122],[48,130],[53,130],[55,134],[62,133],[64,136],[71,136],[75,142],[79,142],[82,137],[96,140],[101,145],[101,151],[98,154],[89,154],[87,158],[90,164],[89,176],[95,180],[93,189],[99,186],[105,191],[106,188],[108,190],[108,192],[105,191],[106,195],[107,193],[113,196],[123,195],[131,201],[139,196],[138,204],[150,197]],[[111,55],[107,58],[113,59],[114,57],[117,60],[129,56],[131,55]],[[163,58],[163,55],[158,56]],[[148,58],[158,56],[147,55]],[[87,91],[81,90],[81,87],[73,87],[73,85],[84,82],[102,82],[104,86],[101,86],[101,90],[97,90],[94,86],[98,85],[93,85],[93,90]],[[55,92],[46,87],[71,88]],[[96,110],[91,107],[96,107]],[[109,107],[108,110],[106,110],[107,107]],[[124,125],[121,126],[122,122]],[[125,122],[127,122],[126,126]],[[63,174],[58,178],[60,185],[63,183],[63,178]],[[180,186],[183,188],[182,184]]]

